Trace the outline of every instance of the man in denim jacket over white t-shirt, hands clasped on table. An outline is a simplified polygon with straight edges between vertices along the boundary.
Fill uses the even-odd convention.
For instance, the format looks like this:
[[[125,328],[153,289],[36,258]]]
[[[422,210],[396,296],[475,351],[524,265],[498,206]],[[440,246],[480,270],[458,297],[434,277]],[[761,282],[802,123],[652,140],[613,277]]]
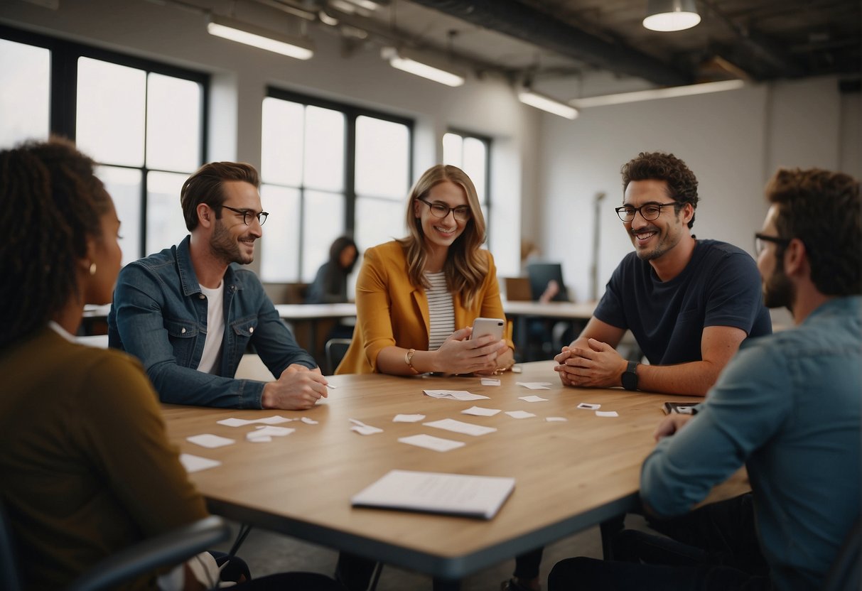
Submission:
[[[252,165],[203,165],[180,194],[191,236],[120,272],[109,345],[141,359],[163,402],[299,410],[327,395],[314,358],[240,266],[266,220],[259,184]],[[249,342],[277,380],[234,378]]]

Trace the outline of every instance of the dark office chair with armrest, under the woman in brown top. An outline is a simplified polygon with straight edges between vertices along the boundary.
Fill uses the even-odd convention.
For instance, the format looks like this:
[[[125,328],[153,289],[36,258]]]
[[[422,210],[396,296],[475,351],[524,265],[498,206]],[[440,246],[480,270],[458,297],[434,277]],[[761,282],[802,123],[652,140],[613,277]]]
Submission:
[[[155,538],[148,538],[97,563],[66,588],[66,591],[97,591],[116,588],[134,576],[162,566],[178,564],[228,539],[230,528],[222,518],[210,516]],[[5,507],[0,502],[0,588],[20,591],[21,578],[15,544]]]

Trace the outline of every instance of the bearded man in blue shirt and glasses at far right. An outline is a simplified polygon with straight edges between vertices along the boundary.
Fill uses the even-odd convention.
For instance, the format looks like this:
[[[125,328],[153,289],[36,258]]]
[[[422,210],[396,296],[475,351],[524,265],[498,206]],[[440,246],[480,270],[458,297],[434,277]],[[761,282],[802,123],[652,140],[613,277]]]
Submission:
[[[674,540],[623,532],[633,562],[566,560],[550,591],[821,587],[862,495],[859,181],[779,170],[766,196],[764,300],[796,327],[743,343],[695,416],[659,425],[640,497],[680,516],[663,523]],[[743,464],[751,494],[686,513]]]

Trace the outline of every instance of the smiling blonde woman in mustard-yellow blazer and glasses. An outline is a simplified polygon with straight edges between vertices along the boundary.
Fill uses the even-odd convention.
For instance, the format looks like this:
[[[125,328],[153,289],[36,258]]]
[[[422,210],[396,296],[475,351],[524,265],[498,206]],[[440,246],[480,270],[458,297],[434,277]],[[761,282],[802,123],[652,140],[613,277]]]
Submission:
[[[511,339],[469,339],[474,319],[503,318],[494,259],[481,248],[485,222],[470,177],[450,165],[425,171],[410,191],[407,227],[406,238],[365,252],[353,342],[335,373],[509,369]]]

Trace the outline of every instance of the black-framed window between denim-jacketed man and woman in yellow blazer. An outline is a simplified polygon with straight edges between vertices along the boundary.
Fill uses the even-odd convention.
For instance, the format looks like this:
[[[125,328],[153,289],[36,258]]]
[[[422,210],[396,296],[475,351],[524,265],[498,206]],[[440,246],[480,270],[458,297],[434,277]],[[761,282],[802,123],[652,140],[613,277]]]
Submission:
[[[263,103],[260,276],[310,282],[329,245],[404,233],[412,121],[271,89]]]

